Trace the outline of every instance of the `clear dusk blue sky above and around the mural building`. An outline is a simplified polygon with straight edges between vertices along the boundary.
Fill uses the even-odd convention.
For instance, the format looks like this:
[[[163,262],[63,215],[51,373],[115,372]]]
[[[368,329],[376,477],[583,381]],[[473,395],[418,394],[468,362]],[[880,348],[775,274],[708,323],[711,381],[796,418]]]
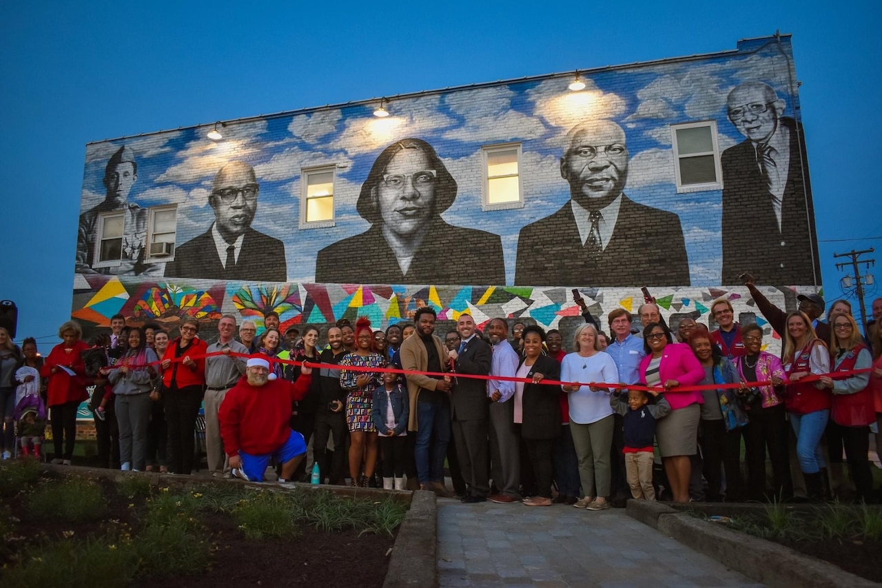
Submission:
[[[396,3],[340,11],[279,4],[260,13],[221,2],[90,3],[88,9],[0,4],[0,170],[7,185],[0,298],[19,305],[17,339],[35,335],[52,343],[70,317],[90,141],[714,53],[777,29],[793,35],[803,82],[799,98],[827,300],[842,296],[833,252],[882,245],[871,185],[878,165],[871,161],[871,139],[880,126],[882,47],[871,30],[878,3],[841,3],[830,14],[823,4],[804,2],[755,11],[637,2],[615,15],[597,5],[572,4],[567,11],[558,4],[540,14],[536,4],[510,3],[505,14],[498,5],[472,4],[447,3],[437,13]],[[721,131],[736,139],[731,129]],[[877,295],[868,289],[868,306]]]

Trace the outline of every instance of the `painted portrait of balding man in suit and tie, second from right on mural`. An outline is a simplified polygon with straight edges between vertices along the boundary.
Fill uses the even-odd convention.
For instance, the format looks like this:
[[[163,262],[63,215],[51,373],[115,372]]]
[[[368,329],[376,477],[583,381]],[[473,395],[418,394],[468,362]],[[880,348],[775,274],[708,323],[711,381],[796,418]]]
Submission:
[[[570,201],[520,230],[514,283],[534,286],[688,286],[677,215],[624,195],[628,149],[612,121],[567,133],[560,174]]]

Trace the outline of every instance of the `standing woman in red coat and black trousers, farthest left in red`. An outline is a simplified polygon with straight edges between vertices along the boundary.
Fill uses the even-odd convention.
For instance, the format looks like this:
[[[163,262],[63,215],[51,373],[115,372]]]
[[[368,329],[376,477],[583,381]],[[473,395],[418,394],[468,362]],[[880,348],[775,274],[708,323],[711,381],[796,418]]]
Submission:
[[[82,336],[83,329],[78,322],[65,322],[58,328],[62,343],[52,348],[40,370],[40,375],[49,380],[46,404],[49,406],[52,441],[55,442],[53,464],[71,464],[77,437],[77,408],[89,397],[86,393],[86,365],[82,358],[83,351],[89,346],[82,341]]]

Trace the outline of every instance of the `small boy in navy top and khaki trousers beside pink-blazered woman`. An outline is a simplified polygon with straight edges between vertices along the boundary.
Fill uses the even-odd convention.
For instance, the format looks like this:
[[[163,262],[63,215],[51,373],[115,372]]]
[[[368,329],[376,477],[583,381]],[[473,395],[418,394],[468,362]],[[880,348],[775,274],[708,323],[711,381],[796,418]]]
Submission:
[[[649,396],[656,403],[649,403]],[[647,501],[655,500],[653,487],[653,440],[655,421],[670,412],[670,404],[656,391],[628,390],[627,400],[619,391],[609,397],[612,410],[624,418],[624,471],[631,495]]]

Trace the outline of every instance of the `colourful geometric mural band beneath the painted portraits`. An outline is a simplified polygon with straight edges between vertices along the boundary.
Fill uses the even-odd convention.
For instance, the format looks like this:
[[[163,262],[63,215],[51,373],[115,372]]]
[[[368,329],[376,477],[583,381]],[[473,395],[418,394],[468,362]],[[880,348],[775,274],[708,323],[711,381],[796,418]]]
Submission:
[[[455,328],[460,314],[475,318],[478,328],[491,319],[505,317],[523,320],[542,328],[557,328],[564,335],[567,348],[572,335],[584,322],[581,310],[572,299],[568,287],[527,286],[450,286],[385,284],[317,284],[317,283],[248,283],[188,280],[175,283],[135,276],[82,275],[74,284],[73,318],[84,327],[86,340],[97,332],[106,331],[110,317],[120,313],[130,326],[143,327],[156,323],[172,337],[186,319],[203,323],[199,336],[209,343],[217,338],[217,323],[223,314],[233,314],[241,324],[250,320],[258,335],[265,330],[264,315],[278,313],[280,331],[297,325],[315,325],[324,337],[326,328],[337,320],[355,322],[359,316],[370,319],[373,328],[385,329],[396,323],[412,320],[416,309],[430,306],[437,313],[438,333]],[[761,289],[774,305],[792,304],[795,290],[786,292],[773,287]],[[607,315],[624,308],[635,315],[643,303],[639,289],[588,288],[580,290],[587,308],[596,320],[609,330]],[[716,328],[710,303],[716,298],[729,300],[736,320],[742,324],[756,322],[764,329],[766,346],[780,351],[781,339],[756,312],[749,290],[718,288],[656,288],[652,291],[662,316],[676,333],[681,319],[691,316],[712,330]]]

